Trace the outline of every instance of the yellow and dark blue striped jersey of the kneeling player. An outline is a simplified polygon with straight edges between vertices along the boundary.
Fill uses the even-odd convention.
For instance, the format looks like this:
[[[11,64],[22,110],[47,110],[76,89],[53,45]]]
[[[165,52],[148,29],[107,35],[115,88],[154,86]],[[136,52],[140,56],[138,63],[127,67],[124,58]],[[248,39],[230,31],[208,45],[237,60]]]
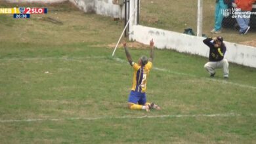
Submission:
[[[148,79],[148,75],[150,69],[152,68],[152,62],[148,62],[143,67],[134,63],[132,65],[134,72],[133,72],[133,86],[131,90],[135,92],[146,92],[146,81]]]

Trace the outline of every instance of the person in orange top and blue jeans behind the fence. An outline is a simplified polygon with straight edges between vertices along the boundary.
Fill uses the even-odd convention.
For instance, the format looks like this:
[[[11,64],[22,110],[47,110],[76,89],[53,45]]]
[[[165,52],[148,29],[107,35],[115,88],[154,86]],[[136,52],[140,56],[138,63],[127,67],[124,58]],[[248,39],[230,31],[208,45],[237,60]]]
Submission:
[[[236,12],[242,12],[242,14],[236,15],[236,22],[238,22],[238,25],[240,27],[239,34],[245,35],[250,27],[250,14],[249,12],[253,9],[253,3],[255,3],[256,0],[236,0]]]

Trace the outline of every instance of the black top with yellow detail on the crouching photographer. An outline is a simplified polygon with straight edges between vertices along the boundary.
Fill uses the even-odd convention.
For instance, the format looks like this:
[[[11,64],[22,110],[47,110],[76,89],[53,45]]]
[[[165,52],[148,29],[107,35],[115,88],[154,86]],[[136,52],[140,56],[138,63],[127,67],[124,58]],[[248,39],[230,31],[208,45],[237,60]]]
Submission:
[[[226,53],[226,46],[224,43],[221,43],[221,46],[219,48],[215,48],[213,44],[213,39],[206,38],[203,40],[203,43],[210,48],[209,52],[209,61],[210,62],[219,62],[223,60],[224,54]]]

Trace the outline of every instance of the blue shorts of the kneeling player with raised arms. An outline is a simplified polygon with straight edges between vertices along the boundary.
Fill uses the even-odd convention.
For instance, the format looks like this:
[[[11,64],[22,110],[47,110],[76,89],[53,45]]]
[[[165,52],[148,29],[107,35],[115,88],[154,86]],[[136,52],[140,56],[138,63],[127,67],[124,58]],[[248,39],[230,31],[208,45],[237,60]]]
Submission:
[[[146,93],[145,92],[135,92],[131,90],[129,95],[128,103],[135,103],[139,105],[144,105],[146,103]]]

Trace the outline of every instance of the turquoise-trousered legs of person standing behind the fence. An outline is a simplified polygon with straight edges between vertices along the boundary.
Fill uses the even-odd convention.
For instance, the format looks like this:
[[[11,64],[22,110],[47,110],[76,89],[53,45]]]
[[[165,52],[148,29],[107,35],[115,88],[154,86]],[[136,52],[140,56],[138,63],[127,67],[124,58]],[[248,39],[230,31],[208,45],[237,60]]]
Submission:
[[[232,0],[228,0],[232,3]],[[224,12],[228,9],[228,5],[225,0],[216,0],[215,4],[215,25],[211,30],[211,33],[221,33],[221,26],[224,18]]]

